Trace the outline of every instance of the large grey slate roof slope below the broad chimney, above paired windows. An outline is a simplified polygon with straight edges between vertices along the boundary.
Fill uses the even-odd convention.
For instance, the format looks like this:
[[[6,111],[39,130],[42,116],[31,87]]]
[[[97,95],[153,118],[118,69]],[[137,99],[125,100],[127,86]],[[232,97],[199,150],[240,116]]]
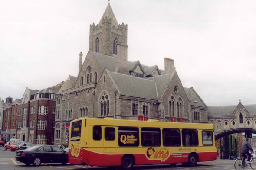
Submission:
[[[109,74],[122,95],[158,100],[154,81],[110,71]]]

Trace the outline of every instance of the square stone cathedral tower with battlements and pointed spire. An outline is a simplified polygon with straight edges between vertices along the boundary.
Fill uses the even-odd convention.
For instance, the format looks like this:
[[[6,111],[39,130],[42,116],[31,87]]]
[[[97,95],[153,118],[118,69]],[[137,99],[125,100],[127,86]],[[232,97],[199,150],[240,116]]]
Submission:
[[[128,26],[118,24],[115,14],[108,3],[108,6],[100,20],[95,26],[90,25],[89,50],[103,55],[117,56],[117,43],[127,45]]]

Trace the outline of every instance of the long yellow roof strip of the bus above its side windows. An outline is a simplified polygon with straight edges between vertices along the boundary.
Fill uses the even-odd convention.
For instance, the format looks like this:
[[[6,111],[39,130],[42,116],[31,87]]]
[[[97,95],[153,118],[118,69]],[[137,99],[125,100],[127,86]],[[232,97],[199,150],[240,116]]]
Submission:
[[[180,122],[153,122],[153,121],[138,121],[138,120],[121,120],[121,119],[99,119],[99,118],[79,118],[78,120],[86,119],[87,125],[102,125],[102,126],[129,126],[129,127],[154,127],[154,128],[191,128],[191,129],[212,129],[212,124],[203,123],[180,123]]]

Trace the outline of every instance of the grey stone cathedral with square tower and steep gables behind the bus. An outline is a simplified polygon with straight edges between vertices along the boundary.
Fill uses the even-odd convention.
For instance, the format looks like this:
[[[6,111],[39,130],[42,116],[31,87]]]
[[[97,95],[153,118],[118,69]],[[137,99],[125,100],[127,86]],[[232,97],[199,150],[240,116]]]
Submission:
[[[55,145],[68,141],[66,120],[80,117],[207,123],[208,106],[182,86],[173,59],[163,58],[164,70],[128,61],[128,25],[118,24],[109,3],[89,34],[78,76],[69,76],[56,97]]]

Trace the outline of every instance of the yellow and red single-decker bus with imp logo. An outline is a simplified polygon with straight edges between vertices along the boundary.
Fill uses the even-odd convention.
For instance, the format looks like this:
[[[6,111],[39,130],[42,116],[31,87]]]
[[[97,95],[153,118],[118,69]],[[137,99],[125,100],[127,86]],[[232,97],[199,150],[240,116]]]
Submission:
[[[217,159],[212,124],[75,119],[70,125],[69,163],[131,169],[134,165]]]

